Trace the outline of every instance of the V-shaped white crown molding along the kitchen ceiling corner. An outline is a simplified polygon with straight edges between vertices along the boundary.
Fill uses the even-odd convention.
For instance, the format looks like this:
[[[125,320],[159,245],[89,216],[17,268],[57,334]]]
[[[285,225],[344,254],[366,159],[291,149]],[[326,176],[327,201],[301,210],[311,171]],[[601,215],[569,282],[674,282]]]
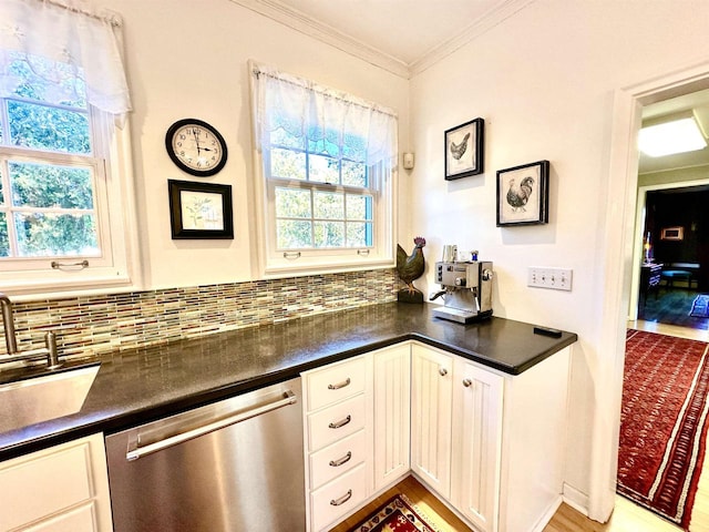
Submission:
[[[404,61],[393,58],[278,0],[229,1],[408,80],[455,52],[455,50],[465,45],[476,37],[505,21],[535,0],[501,0],[495,8],[486,12],[483,17],[476,19],[448,41],[431,49],[412,63],[405,63]]]

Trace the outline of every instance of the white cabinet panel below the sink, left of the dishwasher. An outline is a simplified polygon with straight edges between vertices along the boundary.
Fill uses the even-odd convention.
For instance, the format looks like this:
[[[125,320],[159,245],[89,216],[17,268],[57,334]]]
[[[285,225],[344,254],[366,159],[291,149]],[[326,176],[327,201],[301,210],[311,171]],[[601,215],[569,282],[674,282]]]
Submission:
[[[35,458],[35,457],[40,458]],[[89,442],[0,464],[0,530],[12,529],[88,501],[91,488]]]

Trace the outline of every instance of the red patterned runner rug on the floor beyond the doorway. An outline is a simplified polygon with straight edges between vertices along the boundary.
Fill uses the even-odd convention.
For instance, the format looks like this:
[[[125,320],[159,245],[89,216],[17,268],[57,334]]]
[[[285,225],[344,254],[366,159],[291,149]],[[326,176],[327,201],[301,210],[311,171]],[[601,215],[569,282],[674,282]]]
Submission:
[[[709,344],[629,329],[618,493],[689,530],[707,438]]]

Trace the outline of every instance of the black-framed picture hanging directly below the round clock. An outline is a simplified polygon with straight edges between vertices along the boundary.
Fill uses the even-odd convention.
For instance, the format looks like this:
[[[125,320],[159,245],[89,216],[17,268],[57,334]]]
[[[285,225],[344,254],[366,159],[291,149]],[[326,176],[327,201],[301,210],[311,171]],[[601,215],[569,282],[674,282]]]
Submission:
[[[167,180],[173,239],[234,238],[232,185]]]

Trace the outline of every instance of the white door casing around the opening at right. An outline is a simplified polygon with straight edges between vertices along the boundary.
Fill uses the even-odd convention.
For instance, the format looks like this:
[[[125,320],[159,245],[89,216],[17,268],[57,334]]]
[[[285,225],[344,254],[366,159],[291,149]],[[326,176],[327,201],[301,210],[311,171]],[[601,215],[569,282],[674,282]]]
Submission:
[[[600,316],[594,382],[588,516],[606,522],[615,504],[625,328],[633,268],[634,216],[638,178],[637,132],[641,106],[709,85],[709,63],[695,64],[616,91],[609,171],[600,194],[604,245],[595,265],[605,286],[594,315]],[[621,275],[618,275],[618,273]]]

